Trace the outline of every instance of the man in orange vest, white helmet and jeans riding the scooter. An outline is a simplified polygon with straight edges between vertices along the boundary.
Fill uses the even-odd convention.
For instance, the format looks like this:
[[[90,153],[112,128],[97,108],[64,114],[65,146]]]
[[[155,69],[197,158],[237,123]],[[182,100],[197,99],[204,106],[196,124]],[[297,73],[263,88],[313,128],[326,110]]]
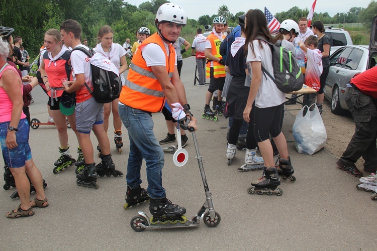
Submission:
[[[166,199],[161,172],[164,153],[153,133],[151,117],[152,112],[162,110],[166,100],[173,118],[181,127],[184,123],[183,129],[198,129],[179,79],[172,46],[186,22],[186,14],[179,6],[172,3],[160,6],[155,19],[158,32],[144,40],[136,50],[119,97],[119,115],[130,139],[125,208],[148,200],[150,196],[149,210],[154,219],[181,217],[186,212]],[[140,186],[142,159],[146,164],[148,193]]]

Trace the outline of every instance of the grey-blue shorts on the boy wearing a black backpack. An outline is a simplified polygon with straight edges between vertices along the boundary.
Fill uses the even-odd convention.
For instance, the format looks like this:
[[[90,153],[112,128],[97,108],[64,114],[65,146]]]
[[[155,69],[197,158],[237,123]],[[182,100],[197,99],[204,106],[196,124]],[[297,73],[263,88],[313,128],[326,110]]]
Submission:
[[[76,129],[81,134],[90,134],[93,124],[104,123],[104,104],[94,97],[76,103]]]

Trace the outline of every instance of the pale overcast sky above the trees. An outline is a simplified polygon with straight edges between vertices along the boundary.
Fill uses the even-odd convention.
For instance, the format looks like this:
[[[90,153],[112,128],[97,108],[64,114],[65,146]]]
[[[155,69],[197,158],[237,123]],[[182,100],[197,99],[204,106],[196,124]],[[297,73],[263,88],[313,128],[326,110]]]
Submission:
[[[139,6],[147,0],[126,0],[131,5]],[[149,1],[151,2],[151,1]],[[198,20],[200,16],[217,14],[220,6],[226,5],[233,15],[238,12],[246,12],[249,9],[260,9],[264,11],[266,7],[272,15],[278,12],[286,12],[292,7],[300,9],[310,8],[314,0],[171,0],[171,3],[179,5],[190,19]],[[348,12],[352,7],[366,8],[370,0],[317,0],[314,12],[328,12],[331,17],[337,13]],[[281,22],[281,20],[279,20]]]

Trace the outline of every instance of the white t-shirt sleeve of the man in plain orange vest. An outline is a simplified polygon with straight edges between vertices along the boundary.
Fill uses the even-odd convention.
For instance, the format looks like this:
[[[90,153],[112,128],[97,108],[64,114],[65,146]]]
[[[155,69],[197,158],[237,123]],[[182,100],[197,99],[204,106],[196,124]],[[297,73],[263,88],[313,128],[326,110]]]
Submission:
[[[169,56],[169,45],[164,42],[167,56]],[[157,44],[151,43],[143,46],[141,49],[143,58],[147,66],[165,66],[168,62],[165,60],[165,53]],[[175,57],[175,65],[177,65],[177,57]]]

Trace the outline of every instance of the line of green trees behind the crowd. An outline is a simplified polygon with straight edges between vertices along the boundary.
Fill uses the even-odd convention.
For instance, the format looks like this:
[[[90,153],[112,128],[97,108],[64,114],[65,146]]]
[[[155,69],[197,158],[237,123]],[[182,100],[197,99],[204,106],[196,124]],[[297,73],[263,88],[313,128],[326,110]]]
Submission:
[[[31,57],[39,53],[43,45],[44,33],[51,28],[59,29],[66,19],[74,19],[82,26],[82,39],[95,47],[97,34],[101,26],[110,25],[114,30],[114,42],[123,44],[126,38],[135,41],[137,30],[144,26],[151,33],[156,32],[154,19],[158,7],[170,1],[152,0],[133,6],[122,0],[0,0],[0,25],[15,29],[14,36],[23,38],[24,47]],[[198,20],[189,19],[182,29],[182,36],[195,34],[196,29],[211,25],[216,16],[223,16],[230,26],[237,25],[237,17],[244,12],[231,14],[227,6],[220,6],[217,13],[204,15]],[[280,22],[285,19],[298,20],[308,16],[308,9],[293,7],[287,12],[276,13]],[[370,23],[377,14],[377,3],[373,0],[367,8],[353,7],[347,13],[338,13],[330,17],[328,13],[314,13],[313,21],[323,23]]]

